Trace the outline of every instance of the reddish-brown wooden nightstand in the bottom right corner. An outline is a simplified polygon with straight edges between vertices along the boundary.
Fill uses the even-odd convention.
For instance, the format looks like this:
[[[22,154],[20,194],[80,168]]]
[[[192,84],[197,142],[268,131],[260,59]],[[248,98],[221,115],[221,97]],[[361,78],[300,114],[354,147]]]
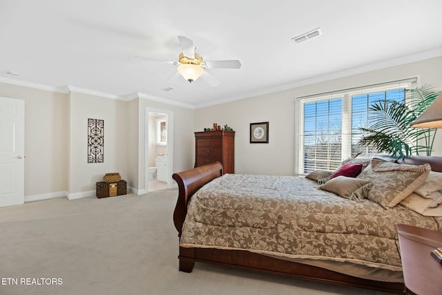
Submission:
[[[404,294],[442,294],[442,264],[431,256],[431,250],[442,247],[442,232],[398,225]]]

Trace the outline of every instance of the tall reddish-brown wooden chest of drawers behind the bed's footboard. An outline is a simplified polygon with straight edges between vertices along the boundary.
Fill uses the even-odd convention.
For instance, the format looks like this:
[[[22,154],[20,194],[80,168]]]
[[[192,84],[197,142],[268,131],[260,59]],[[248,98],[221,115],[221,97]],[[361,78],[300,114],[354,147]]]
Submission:
[[[195,132],[195,167],[216,161],[235,173],[235,131]]]

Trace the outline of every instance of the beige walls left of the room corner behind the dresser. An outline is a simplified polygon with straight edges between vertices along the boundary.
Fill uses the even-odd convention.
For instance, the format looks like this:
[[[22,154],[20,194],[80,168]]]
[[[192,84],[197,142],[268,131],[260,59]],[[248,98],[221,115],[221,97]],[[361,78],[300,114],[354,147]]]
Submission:
[[[0,96],[25,101],[25,200],[95,196],[95,182],[108,172],[119,172],[128,189],[145,193],[148,108],[174,117],[171,174],[193,166],[193,109],[145,97],[126,102],[7,83],[0,83]],[[104,120],[104,163],[87,162],[88,118]]]

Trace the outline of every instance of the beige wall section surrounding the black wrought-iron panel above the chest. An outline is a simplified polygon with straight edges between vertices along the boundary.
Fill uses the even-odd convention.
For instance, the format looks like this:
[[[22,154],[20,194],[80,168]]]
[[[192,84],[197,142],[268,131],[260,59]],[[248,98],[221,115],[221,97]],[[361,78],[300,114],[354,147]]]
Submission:
[[[88,163],[88,118],[104,120],[104,162]],[[70,198],[95,192],[106,173],[127,179],[128,103],[83,93],[70,93]]]

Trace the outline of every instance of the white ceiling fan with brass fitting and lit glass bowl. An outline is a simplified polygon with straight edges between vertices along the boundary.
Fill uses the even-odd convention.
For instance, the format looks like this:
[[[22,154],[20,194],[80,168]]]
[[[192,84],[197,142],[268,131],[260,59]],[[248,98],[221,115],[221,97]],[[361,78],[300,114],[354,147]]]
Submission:
[[[151,57],[136,57],[137,59],[144,59],[147,61],[160,61],[167,64],[174,64],[177,67],[177,73],[175,75],[182,75],[187,81],[194,82],[199,77],[206,80],[211,86],[217,86],[220,81],[206,72],[208,68],[240,68],[241,63],[239,60],[213,60],[204,61],[202,56],[195,53],[196,46],[193,41],[184,36],[178,36],[182,53],[178,57],[178,61],[168,61],[164,59],[156,59]],[[175,77],[173,75],[173,77]],[[173,77],[169,78],[172,79]]]

